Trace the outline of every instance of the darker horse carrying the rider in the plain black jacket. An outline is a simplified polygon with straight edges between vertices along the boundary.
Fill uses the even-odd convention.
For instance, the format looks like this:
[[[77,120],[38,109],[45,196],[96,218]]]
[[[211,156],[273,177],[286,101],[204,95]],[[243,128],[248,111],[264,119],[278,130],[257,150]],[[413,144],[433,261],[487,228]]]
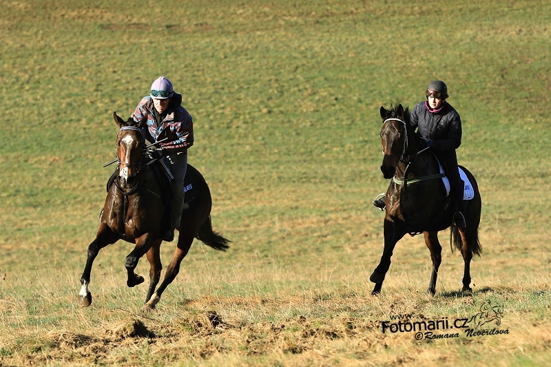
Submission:
[[[375,283],[372,294],[381,291],[386,272],[391,266],[391,257],[396,243],[406,235],[424,234],[425,244],[430,250],[433,271],[428,293],[436,292],[436,280],[441,263],[442,247],[438,241],[438,231],[451,227],[452,250],[458,249],[465,262],[463,289],[470,289],[470,260],[473,253],[480,255],[478,227],[482,202],[475,177],[461,167],[475,195],[465,202],[467,227],[459,229],[453,224],[455,208],[439,174],[439,163],[430,149],[422,149],[419,137],[409,125],[408,108],[402,105],[391,109],[381,107],[383,119],[381,145],[384,158],[381,171],[384,178],[391,179],[385,194],[384,250],[379,265],[370,277]]]

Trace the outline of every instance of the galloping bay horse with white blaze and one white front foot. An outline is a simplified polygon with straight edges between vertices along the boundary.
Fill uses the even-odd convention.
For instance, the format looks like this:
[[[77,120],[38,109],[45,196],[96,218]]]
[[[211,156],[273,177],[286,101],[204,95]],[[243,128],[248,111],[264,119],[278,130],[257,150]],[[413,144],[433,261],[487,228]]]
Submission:
[[[96,239],[88,246],[81,277],[80,304],[85,307],[92,303],[88,285],[92,263],[98,252],[108,244],[125,240],[135,244],[134,250],[126,257],[127,286],[133,287],[144,282],[141,275],[134,273],[134,269],[143,255],[147,254],[149,260],[149,287],[143,306],[147,310],[155,308],[163,291],[176,278],[180,262],[187,255],[194,238],[219,251],[228,249],[230,241],[212,231],[209,187],[199,171],[188,165],[185,182],[190,190],[186,194],[191,191],[193,199],[182,214],[174,258],[166,269],[163,282],[156,289],[163,269],[160,262],[160,244],[163,241],[159,235],[167,200],[163,198],[163,187],[150,167],[152,161],[149,161],[140,127],[136,126],[132,118],[125,122],[115,112],[113,117],[120,127],[116,137],[118,167],[114,185],[111,185],[105,199]]]

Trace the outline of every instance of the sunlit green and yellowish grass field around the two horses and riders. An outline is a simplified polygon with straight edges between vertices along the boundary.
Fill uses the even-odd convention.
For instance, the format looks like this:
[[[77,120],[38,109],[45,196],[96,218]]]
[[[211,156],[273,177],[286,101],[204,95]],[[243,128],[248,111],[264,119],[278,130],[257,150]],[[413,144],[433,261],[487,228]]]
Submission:
[[[548,1],[0,6],[0,366],[550,363]],[[94,303],[80,308],[112,112],[129,116],[159,75],[194,116],[189,162],[231,249],[196,242],[142,314],[146,286],[125,286],[132,245],[117,242],[98,255]],[[483,200],[473,294],[459,293],[463,261],[446,231],[435,297],[419,236],[398,243],[372,297],[383,215],[371,200],[388,185],[378,111],[413,107],[435,78],[461,114],[459,162]],[[174,246],[163,244],[163,264]],[[137,272],[148,271],[143,258]],[[501,323],[477,330],[499,334],[383,333],[399,315],[451,325],[486,302]]]

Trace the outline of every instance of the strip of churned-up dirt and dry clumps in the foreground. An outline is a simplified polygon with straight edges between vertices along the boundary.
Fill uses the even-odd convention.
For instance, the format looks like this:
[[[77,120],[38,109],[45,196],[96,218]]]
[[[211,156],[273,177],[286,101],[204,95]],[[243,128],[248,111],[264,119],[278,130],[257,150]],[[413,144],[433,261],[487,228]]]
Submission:
[[[374,328],[374,325],[356,324],[352,319],[335,319],[331,324],[323,324],[304,316],[277,324],[233,325],[216,311],[201,312],[171,324],[130,317],[101,333],[47,335],[33,350],[17,350],[13,346],[11,350],[15,353],[0,356],[0,365],[42,365],[52,361],[61,365],[134,364],[146,348],[147,354],[156,356],[158,361],[207,359],[229,351],[251,356],[300,354],[318,350],[335,340],[351,342],[360,334],[371,334]],[[369,348],[373,343],[368,339],[361,337],[354,343],[359,348]]]

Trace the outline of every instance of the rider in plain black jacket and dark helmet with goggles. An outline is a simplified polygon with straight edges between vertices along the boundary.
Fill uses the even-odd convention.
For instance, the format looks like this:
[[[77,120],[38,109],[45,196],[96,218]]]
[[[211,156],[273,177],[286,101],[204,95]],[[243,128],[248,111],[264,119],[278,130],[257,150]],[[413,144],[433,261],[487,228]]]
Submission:
[[[448,87],[443,81],[432,81],[426,88],[426,101],[413,107],[410,125],[426,141],[444,167],[450,180],[450,195],[455,205],[453,220],[459,228],[466,227],[463,202],[464,182],[459,176],[455,149],[461,145],[461,118],[447,101]],[[384,198],[374,200],[375,207],[384,208]]]

